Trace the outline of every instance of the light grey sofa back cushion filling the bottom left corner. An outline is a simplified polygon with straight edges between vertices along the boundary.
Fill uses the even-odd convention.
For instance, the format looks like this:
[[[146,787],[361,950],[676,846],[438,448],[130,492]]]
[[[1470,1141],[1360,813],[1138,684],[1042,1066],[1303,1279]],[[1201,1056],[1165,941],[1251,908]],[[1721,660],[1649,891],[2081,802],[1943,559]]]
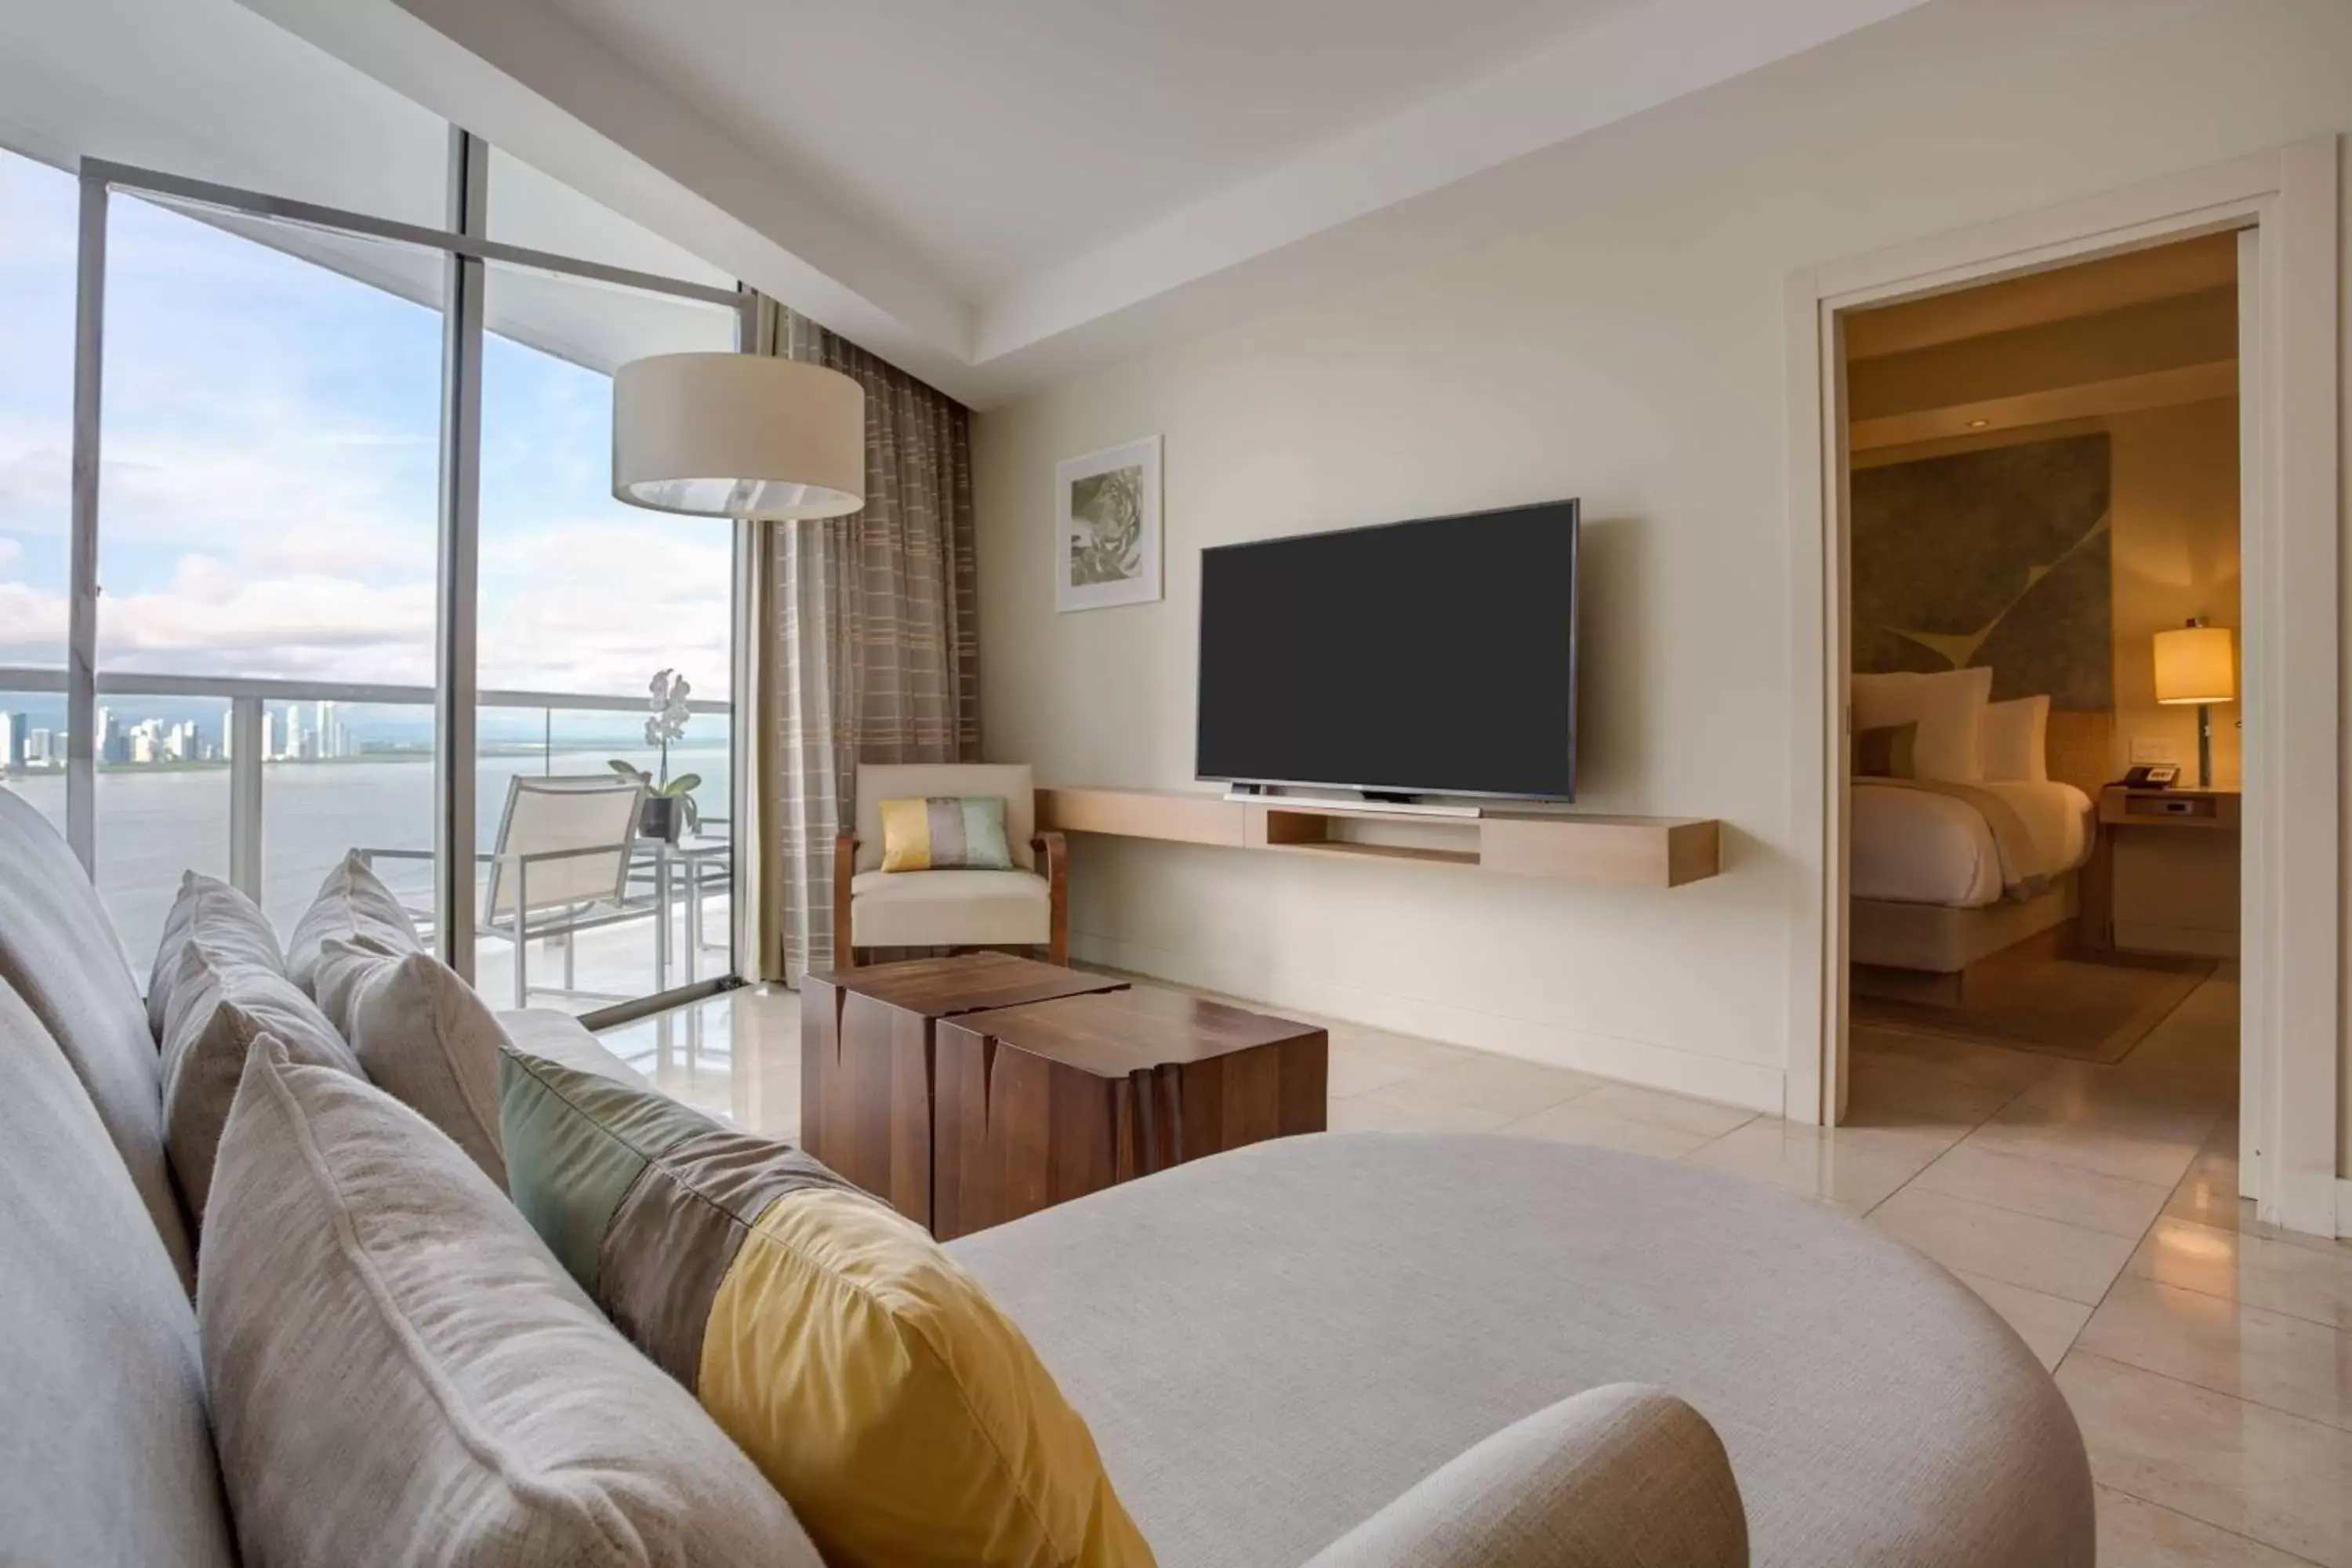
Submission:
[[[235,1561],[195,1312],[56,1041],[0,985],[0,1559]]]

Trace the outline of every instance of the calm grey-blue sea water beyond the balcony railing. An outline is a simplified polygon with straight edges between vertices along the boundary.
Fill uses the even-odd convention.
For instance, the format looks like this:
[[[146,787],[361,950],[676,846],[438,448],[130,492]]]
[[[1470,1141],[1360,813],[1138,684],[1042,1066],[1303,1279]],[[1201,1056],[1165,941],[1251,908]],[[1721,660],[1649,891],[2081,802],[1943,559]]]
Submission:
[[[607,757],[654,771],[649,752],[614,748],[482,757],[475,771],[475,839],[499,839],[508,780],[517,773],[600,773]],[[694,799],[706,818],[729,806],[727,748],[670,748],[670,773],[701,773]],[[64,773],[7,780],[56,830],[66,827]],[[273,762],[261,769],[261,907],[289,931],[320,879],[350,849],[433,849],[433,766],[423,755],[365,762]],[[228,875],[228,769],[118,769],[99,773],[96,882],[132,966],[146,973],[183,870]],[[428,863],[388,860],[379,872],[412,905],[430,900]]]

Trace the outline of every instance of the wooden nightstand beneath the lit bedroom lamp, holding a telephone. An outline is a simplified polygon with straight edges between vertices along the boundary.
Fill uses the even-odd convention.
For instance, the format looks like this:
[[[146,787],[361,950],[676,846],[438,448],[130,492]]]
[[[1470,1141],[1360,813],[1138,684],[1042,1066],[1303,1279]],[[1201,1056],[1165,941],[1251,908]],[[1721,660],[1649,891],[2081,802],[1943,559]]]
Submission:
[[[2237,790],[2100,790],[2086,936],[2122,952],[2234,959],[2237,825]]]

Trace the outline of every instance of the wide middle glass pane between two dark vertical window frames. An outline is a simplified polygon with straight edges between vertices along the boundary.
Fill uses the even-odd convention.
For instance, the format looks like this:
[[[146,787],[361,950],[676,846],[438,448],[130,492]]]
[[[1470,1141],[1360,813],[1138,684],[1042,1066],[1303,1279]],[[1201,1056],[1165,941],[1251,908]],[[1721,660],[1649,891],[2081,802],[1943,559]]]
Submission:
[[[348,849],[430,889],[437,294],[433,252],[108,202],[96,865],[134,954],[179,865],[228,867],[233,769],[280,929]]]

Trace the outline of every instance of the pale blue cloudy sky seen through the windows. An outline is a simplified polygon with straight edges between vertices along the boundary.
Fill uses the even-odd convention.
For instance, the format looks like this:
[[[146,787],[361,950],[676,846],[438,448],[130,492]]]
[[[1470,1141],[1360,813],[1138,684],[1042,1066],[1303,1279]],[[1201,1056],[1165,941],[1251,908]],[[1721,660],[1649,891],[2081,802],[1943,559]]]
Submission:
[[[61,665],[75,181],[0,150],[0,665]],[[101,670],[433,682],[440,317],[111,202]],[[727,691],[729,541],[612,501],[612,388],[492,336],[485,686]]]

